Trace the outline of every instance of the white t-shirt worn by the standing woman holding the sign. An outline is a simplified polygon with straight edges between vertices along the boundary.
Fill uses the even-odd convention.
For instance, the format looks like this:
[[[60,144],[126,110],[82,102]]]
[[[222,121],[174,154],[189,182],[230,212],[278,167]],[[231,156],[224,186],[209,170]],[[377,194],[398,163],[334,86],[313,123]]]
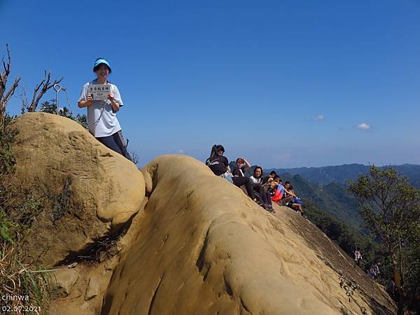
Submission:
[[[98,84],[95,80],[88,82],[82,87],[82,92],[78,102],[87,100],[87,89],[90,84]],[[108,83],[111,84],[111,83]],[[114,94],[114,100],[120,106],[123,106],[123,100],[120,96],[118,87],[111,84],[111,92]],[[108,137],[121,130],[120,123],[118,123],[117,114],[113,111],[111,101],[106,102],[93,101],[93,104],[87,107],[87,124],[89,131],[94,137]]]

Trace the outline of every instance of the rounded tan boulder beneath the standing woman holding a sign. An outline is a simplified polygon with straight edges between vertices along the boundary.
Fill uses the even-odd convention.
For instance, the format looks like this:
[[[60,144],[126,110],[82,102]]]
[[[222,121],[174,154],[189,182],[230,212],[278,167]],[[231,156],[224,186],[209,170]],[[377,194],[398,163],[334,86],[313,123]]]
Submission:
[[[118,232],[139,211],[141,172],[78,123],[26,113],[10,128],[19,132],[13,143],[17,185],[50,200],[24,238],[32,258],[56,265]]]

